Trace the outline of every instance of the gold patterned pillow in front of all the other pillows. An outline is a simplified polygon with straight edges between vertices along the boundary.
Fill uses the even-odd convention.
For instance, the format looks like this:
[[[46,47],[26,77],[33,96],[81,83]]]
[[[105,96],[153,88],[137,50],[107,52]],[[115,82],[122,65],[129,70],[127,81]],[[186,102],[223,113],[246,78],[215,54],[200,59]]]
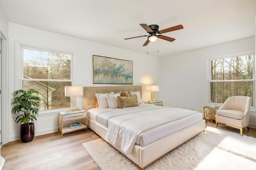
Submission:
[[[134,107],[134,106],[139,105],[136,94],[129,96],[129,97],[118,96],[117,99],[118,99],[118,105],[119,105],[120,109],[123,109],[125,107]]]

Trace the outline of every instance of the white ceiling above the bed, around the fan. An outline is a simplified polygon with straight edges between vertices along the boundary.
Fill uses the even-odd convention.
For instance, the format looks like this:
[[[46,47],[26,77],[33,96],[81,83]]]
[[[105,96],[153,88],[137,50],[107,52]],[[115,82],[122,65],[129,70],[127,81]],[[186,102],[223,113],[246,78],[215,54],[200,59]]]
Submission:
[[[255,35],[254,0],[0,0],[0,6],[10,22],[155,56]],[[148,35],[139,24],[184,29],[162,34],[174,42],[143,47],[146,37],[124,40]]]

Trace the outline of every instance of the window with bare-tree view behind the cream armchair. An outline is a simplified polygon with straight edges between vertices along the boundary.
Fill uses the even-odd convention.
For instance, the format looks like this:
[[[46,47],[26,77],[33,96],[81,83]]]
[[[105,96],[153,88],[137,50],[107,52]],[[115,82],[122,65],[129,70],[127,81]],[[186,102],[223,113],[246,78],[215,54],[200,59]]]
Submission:
[[[230,96],[254,99],[254,62],[253,53],[210,60],[210,102],[224,103]]]

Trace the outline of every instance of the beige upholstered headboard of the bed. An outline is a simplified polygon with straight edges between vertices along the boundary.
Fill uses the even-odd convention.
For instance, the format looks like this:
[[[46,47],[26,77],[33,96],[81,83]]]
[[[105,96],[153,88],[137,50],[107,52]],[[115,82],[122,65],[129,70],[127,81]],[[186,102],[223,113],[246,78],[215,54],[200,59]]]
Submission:
[[[115,86],[115,87],[84,87],[83,109],[88,110],[96,107],[96,93],[118,93],[120,91],[140,91],[141,86]]]

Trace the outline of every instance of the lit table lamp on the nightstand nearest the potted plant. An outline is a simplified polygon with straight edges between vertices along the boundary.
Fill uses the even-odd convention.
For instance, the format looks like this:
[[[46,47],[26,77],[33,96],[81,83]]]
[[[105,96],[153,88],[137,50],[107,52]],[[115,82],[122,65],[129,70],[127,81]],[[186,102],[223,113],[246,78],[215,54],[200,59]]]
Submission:
[[[82,86],[65,86],[65,96],[70,97],[70,111],[78,111],[76,96],[83,95]]]

